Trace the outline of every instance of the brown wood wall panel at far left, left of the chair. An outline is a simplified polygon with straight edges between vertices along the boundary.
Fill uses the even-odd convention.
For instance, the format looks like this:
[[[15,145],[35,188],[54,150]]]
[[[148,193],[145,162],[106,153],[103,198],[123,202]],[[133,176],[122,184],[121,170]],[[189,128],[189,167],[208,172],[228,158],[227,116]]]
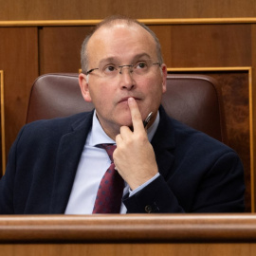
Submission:
[[[5,76],[6,150],[25,124],[30,88],[38,76],[37,27],[0,27],[0,70]]]

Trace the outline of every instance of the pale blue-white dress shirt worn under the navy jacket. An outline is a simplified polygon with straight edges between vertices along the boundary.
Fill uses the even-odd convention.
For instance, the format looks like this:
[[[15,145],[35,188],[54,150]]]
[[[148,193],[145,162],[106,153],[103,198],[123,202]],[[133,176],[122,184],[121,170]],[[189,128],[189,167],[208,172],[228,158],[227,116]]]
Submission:
[[[153,125],[148,129],[148,138],[151,141],[155,135],[156,128],[159,123],[159,113]],[[98,192],[101,178],[110,166],[110,159],[104,149],[96,147],[98,144],[116,142],[108,137],[103,131],[101,124],[96,116],[93,116],[92,129],[88,134],[85,145],[82,150],[81,159],[78,170],[73,183],[72,191],[69,196],[65,214],[91,214],[94,207],[95,198]],[[123,194],[129,192],[130,196],[152,182],[159,174],[142,184],[135,191],[129,190],[129,186],[125,183]],[[124,204],[121,204],[120,213],[126,213]]]

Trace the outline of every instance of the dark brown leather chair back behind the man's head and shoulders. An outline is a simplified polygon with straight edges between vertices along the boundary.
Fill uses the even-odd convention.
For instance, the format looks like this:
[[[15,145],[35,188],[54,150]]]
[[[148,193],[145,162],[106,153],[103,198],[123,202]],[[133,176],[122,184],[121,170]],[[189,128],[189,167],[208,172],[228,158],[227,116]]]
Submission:
[[[162,105],[169,116],[225,142],[221,93],[215,80],[204,75],[168,75]],[[27,122],[66,117],[93,109],[82,98],[78,74],[46,74],[33,84]]]

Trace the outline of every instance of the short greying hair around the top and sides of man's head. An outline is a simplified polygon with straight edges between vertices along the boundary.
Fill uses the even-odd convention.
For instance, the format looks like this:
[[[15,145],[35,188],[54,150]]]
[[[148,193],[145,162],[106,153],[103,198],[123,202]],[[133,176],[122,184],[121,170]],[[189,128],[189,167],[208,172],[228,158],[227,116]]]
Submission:
[[[91,38],[91,36],[100,28],[103,26],[111,26],[114,24],[117,24],[119,22],[123,22],[126,23],[127,25],[135,25],[137,24],[140,27],[143,27],[144,29],[146,29],[154,38],[155,40],[155,47],[156,47],[156,54],[157,54],[157,59],[158,62],[160,64],[163,64],[163,57],[162,57],[162,52],[161,52],[161,45],[159,43],[158,38],[156,37],[155,33],[146,25],[144,25],[143,23],[138,22],[137,20],[134,19],[130,19],[128,17],[124,17],[124,16],[110,16],[106,19],[104,19],[103,21],[101,21],[101,23],[99,23],[94,30],[92,31],[92,33],[90,33],[88,36],[86,36],[86,38],[84,39],[84,41],[82,42],[82,49],[81,49],[81,66],[82,66],[82,73],[86,73],[86,71],[88,70],[88,53],[87,53],[87,44]]]

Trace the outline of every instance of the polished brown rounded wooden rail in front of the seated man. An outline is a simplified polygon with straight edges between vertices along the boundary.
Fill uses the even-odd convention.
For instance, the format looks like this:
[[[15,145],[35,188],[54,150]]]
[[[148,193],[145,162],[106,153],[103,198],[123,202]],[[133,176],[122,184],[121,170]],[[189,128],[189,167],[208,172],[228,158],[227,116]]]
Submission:
[[[159,246],[177,243],[181,247],[185,243],[256,245],[256,215],[250,213],[1,215],[0,230],[0,244],[9,245],[61,244],[63,246],[78,243],[158,244]],[[131,251],[127,255],[148,254]],[[192,255],[201,256],[206,253]],[[247,256],[247,254],[242,255]]]

